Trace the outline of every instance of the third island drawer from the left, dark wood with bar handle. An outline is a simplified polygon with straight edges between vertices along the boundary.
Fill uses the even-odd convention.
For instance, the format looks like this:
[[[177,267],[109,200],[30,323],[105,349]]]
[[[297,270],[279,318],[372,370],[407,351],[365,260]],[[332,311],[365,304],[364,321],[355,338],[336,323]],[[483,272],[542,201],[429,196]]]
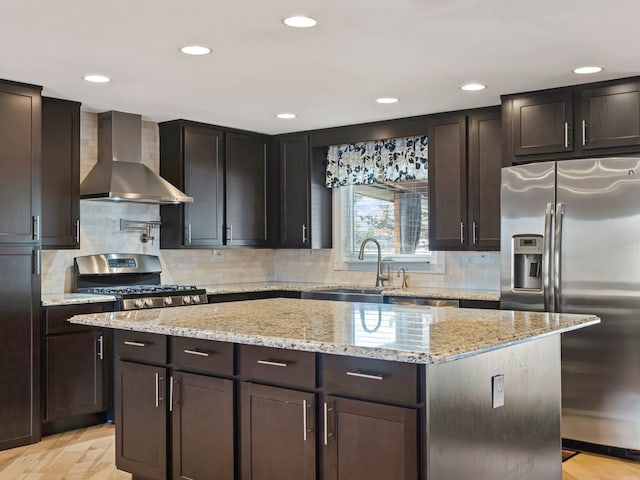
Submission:
[[[240,345],[240,375],[303,388],[316,386],[316,355],[312,352]]]

